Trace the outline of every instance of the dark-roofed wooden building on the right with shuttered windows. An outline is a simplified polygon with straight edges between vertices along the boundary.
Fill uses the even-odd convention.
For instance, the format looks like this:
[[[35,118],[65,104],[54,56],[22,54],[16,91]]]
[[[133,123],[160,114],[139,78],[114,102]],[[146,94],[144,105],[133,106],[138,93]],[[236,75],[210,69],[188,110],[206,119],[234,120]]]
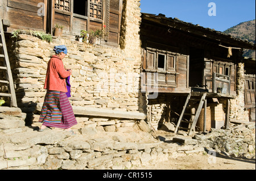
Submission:
[[[216,109],[218,103],[222,103],[223,125],[209,123],[209,127],[228,126],[229,100],[237,94],[237,64],[243,60],[242,49],[255,49],[254,44],[162,14],[142,14],[141,41],[142,86],[148,92],[162,95],[162,100],[160,97],[159,101],[148,100],[149,121],[153,121],[152,112],[155,112],[151,106],[165,103],[167,108],[162,112],[166,115],[160,119],[169,122],[176,117],[176,124],[195,126],[191,123],[192,117],[200,119],[201,108],[205,111],[205,120],[212,112],[208,113],[207,107],[215,104],[213,109]],[[192,98],[198,100],[192,101]],[[194,110],[187,112],[185,107],[189,107],[189,102]]]

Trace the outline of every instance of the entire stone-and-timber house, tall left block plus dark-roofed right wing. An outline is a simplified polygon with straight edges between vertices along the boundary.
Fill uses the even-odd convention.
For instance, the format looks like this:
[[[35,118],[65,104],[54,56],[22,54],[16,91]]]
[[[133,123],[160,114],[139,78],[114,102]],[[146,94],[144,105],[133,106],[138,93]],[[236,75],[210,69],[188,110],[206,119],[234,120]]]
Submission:
[[[131,131],[138,120],[154,129],[166,121],[176,124],[191,92],[200,98],[207,92],[207,111],[200,119],[208,115],[210,127],[226,128],[230,118],[248,117],[241,50],[255,45],[163,15],[141,14],[139,6],[139,0],[0,2],[16,99],[27,124],[38,120],[47,62],[60,44],[68,48],[64,65],[73,70],[69,100],[77,128]],[[63,35],[52,36],[50,43],[35,36],[53,35],[56,24],[63,26]],[[103,30],[100,45],[77,41],[81,30]],[[234,49],[227,57],[229,47]],[[0,90],[8,91],[5,85]]]

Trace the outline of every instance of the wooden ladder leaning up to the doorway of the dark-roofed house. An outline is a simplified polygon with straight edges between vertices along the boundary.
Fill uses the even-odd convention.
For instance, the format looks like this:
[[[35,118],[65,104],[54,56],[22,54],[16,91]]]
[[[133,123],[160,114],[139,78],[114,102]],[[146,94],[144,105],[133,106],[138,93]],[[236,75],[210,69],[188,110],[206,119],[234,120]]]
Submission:
[[[180,114],[180,117],[179,117],[179,120],[177,122],[175,131],[174,131],[175,133],[177,133],[177,131],[179,129],[186,129],[186,130],[188,130],[189,131],[188,135],[191,135],[193,133],[193,131],[195,130],[196,123],[197,123],[197,120],[199,118],[200,112],[202,110],[202,107],[203,107],[206,95],[207,95],[207,93],[204,93],[201,96],[200,99],[197,99],[197,98],[191,98],[191,93],[188,94],[186,102],[185,102],[184,107],[183,107],[183,110],[182,110],[182,112]],[[193,108],[196,108],[195,113],[186,113],[186,111],[188,109],[191,109],[191,103],[195,104],[196,102],[199,102],[199,104],[198,104],[197,108],[193,107]],[[191,117],[195,116],[195,117],[193,119],[191,119],[191,120],[186,120],[186,119],[184,119],[185,115],[189,115]],[[188,123],[188,128],[180,127],[180,123]]]

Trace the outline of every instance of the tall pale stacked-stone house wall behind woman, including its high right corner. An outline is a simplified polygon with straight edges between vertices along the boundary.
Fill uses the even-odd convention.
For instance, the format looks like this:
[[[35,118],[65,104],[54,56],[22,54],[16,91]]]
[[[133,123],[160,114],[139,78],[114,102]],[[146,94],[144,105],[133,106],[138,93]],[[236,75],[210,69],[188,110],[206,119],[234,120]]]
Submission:
[[[141,43],[139,39],[140,3],[125,1],[123,33],[119,45],[88,45],[64,35],[53,37],[52,43],[20,34],[7,39],[18,107],[32,115],[42,106],[47,62],[55,54],[55,45],[65,44],[68,55],[65,68],[72,69],[72,106],[102,108],[115,111],[143,112],[144,96],[139,91]],[[83,119],[85,120],[85,119]]]

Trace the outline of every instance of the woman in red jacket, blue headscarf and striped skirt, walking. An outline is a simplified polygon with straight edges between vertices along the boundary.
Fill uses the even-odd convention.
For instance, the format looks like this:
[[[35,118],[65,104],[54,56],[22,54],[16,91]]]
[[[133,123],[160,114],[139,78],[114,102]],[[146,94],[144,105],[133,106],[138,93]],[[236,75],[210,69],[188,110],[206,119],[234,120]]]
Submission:
[[[43,123],[40,132],[49,127],[62,128],[75,134],[71,127],[77,124],[76,117],[67,95],[65,78],[71,75],[72,70],[65,70],[63,58],[68,53],[65,45],[55,46],[55,55],[51,57],[47,66],[44,89],[47,89],[39,122]]]

